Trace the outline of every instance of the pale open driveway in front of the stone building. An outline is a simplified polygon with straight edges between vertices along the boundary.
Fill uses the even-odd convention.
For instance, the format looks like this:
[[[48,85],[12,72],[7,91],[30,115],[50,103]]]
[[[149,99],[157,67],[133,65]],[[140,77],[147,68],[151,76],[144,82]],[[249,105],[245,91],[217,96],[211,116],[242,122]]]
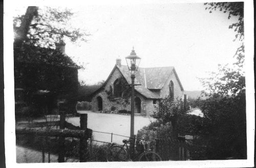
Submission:
[[[131,115],[95,113],[91,111],[79,111],[79,113],[88,114],[88,128],[93,131],[110,132],[130,136]],[[79,117],[69,117],[67,118],[67,121],[75,126],[80,126]],[[151,121],[154,121],[154,118],[147,116],[135,116],[134,133],[137,134],[139,129],[147,126]],[[111,134],[93,132],[93,137],[96,140],[111,142]],[[125,137],[113,135],[113,142],[122,143],[123,139],[125,139]]]

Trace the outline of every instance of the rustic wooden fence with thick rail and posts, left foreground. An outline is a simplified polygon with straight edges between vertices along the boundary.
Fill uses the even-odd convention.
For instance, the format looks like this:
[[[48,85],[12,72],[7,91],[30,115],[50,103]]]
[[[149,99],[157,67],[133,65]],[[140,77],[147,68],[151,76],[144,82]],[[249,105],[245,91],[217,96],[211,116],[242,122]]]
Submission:
[[[79,138],[79,160],[86,162],[87,140],[92,137],[92,130],[87,128],[87,118],[87,114],[80,114],[80,127],[73,126],[65,121],[65,112],[60,111],[60,121],[17,124],[15,131],[22,135],[58,137],[58,162],[65,162],[65,138]],[[44,140],[42,143],[42,162],[45,162]],[[48,156],[50,162],[50,153]]]

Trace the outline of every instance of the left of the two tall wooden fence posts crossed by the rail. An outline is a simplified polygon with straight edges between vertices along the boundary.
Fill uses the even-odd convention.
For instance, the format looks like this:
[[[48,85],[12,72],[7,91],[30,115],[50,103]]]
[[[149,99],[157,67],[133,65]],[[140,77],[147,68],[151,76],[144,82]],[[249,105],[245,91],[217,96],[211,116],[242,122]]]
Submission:
[[[59,128],[65,129],[65,111],[62,107],[59,110]],[[65,162],[65,137],[59,137],[58,162]]]

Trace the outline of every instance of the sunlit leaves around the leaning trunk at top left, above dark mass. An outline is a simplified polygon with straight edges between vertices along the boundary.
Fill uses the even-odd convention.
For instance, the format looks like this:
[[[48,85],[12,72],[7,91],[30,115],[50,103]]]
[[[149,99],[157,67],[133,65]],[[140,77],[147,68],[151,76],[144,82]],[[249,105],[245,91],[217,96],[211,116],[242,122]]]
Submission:
[[[32,7],[28,7],[27,14],[30,12],[29,8]],[[89,34],[69,24],[73,14],[70,9],[36,7],[31,22],[27,26],[25,43],[54,48],[55,43],[62,38],[68,38],[73,42],[87,41],[86,36]],[[19,36],[20,29],[24,29],[22,22],[25,18],[26,14],[14,17],[13,27],[16,36]]]

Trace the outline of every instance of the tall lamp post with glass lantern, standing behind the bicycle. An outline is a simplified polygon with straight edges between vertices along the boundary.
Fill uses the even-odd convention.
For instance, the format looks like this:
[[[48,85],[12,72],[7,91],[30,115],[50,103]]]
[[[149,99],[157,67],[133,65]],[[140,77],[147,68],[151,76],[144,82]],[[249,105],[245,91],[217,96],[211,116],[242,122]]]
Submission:
[[[130,132],[130,137],[134,137],[134,86],[135,85],[140,85],[140,84],[134,84],[134,79],[135,79],[135,73],[138,70],[139,64],[140,64],[140,57],[138,57],[133,50],[131,54],[127,57],[125,57],[128,69],[131,71],[131,78],[132,78],[132,97],[131,97],[131,132]]]

